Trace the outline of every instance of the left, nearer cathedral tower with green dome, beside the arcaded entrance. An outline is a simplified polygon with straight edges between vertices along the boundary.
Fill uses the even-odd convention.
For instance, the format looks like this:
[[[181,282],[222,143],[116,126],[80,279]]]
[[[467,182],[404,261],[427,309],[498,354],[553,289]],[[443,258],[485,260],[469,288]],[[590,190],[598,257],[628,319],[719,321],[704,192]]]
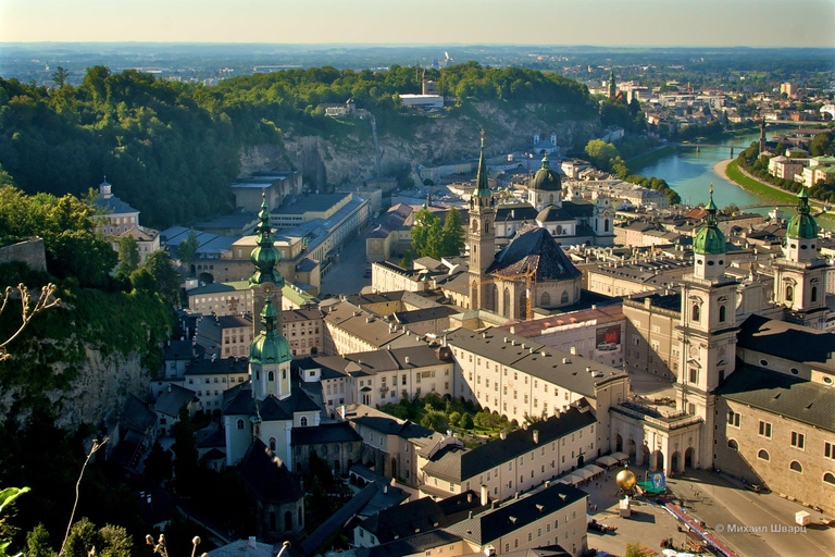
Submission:
[[[735,278],[725,274],[727,249],[718,225],[718,208],[710,200],[708,214],[693,242],[694,270],[682,284],[682,317],[676,335],[681,354],[675,383],[678,410],[700,417],[703,425],[694,447],[696,462],[713,462],[715,401],[711,394],[734,371],[736,362]]]

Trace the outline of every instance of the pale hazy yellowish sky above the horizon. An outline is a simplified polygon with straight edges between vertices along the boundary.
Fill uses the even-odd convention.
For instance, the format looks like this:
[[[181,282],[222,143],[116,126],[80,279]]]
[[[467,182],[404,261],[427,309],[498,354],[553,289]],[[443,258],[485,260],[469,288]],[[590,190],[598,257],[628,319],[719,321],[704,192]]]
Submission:
[[[835,47],[835,0],[0,0],[0,41]]]

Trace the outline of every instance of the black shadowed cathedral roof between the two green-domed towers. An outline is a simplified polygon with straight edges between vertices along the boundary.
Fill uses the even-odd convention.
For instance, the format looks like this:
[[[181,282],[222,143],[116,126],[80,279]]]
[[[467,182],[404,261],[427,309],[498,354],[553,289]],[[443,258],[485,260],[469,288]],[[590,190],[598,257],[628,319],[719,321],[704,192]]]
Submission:
[[[743,322],[737,346],[835,371],[835,334],[786,321],[750,315]]]

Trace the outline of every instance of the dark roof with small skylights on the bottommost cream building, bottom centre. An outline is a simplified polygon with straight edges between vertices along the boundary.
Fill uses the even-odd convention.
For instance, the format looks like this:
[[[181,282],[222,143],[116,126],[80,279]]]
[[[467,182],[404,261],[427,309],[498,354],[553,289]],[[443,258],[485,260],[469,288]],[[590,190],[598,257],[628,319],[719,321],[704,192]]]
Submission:
[[[446,527],[445,530],[484,545],[586,497],[587,493],[573,485],[558,483],[506,502],[498,508]],[[511,521],[511,517],[515,520]]]

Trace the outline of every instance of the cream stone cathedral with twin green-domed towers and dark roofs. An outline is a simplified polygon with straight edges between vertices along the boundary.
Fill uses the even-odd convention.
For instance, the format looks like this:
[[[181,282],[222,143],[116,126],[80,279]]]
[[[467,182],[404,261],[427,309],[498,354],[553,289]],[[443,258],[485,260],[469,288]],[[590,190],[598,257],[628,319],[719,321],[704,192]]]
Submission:
[[[826,262],[818,257],[808,195],[805,189],[798,195],[798,212],[775,265],[773,300],[782,314],[738,320],[739,283],[726,273],[727,248],[712,194],[711,188],[694,238],[693,272],[681,285],[675,411],[652,419],[613,412],[613,446],[650,470],[719,467],[832,508],[835,334],[823,331]]]

